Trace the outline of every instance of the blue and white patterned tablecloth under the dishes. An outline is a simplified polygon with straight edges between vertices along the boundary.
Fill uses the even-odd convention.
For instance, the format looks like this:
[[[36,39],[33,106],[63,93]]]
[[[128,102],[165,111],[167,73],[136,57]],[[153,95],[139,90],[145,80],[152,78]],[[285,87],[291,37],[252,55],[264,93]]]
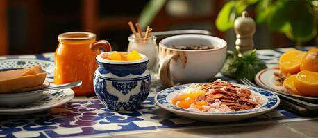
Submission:
[[[277,66],[281,53],[288,49],[258,50],[258,57],[265,61],[268,67],[274,67]],[[17,58],[53,61],[53,53],[0,57],[0,59]],[[237,81],[223,77],[221,74],[215,77],[215,79],[219,78],[237,83]],[[72,102],[53,108],[48,112],[0,116],[0,137],[106,137],[136,132],[158,132],[210,126],[246,126],[266,124],[272,121],[299,121],[317,118],[301,117],[278,107],[266,115],[233,123],[217,124],[194,121],[158,108],[153,97],[160,90],[162,87],[158,79],[153,79],[149,97],[142,104],[142,108],[134,111],[114,112],[105,108],[97,97],[76,97]]]

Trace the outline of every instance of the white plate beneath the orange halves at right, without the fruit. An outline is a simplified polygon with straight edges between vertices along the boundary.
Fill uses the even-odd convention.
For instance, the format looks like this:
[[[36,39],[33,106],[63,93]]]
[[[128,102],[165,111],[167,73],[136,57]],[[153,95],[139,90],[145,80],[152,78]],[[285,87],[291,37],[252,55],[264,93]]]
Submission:
[[[261,86],[262,88],[266,88],[269,90],[272,90],[274,92],[279,92],[283,95],[288,95],[290,97],[294,97],[297,99],[302,99],[305,101],[318,101],[318,97],[306,97],[302,95],[295,95],[293,93],[287,93],[283,92],[283,86],[276,86],[275,85],[275,75],[274,72],[280,72],[278,68],[266,68],[264,70],[260,70],[258,74],[256,74],[255,82],[258,84],[258,86]]]

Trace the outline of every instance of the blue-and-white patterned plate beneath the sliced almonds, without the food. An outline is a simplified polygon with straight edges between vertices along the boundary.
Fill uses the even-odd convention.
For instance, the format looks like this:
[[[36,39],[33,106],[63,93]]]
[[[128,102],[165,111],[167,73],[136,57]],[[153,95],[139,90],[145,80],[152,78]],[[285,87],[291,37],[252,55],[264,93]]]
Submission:
[[[220,113],[190,111],[183,108],[179,108],[171,104],[171,100],[178,94],[179,90],[183,90],[190,85],[191,84],[185,84],[182,86],[174,86],[174,87],[162,90],[155,97],[156,104],[160,106],[160,108],[163,108],[169,112],[174,112],[177,115],[188,117],[190,119],[195,119],[199,121],[209,121],[209,122],[229,122],[229,121],[239,121],[242,119],[247,119],[250,117],[255,117],[257,115],[265,114],[266,112],[274,110],[280,103],[279,97],[267,90],[264,90],[262,88],[235,84],[242,88],[247,88],[251,90],[252,92],[258,92],[263,98],[265,98],[266,102],[263,103],[262,106],[251,109],[251,110],[241,110],[237,112],[220,112]]]

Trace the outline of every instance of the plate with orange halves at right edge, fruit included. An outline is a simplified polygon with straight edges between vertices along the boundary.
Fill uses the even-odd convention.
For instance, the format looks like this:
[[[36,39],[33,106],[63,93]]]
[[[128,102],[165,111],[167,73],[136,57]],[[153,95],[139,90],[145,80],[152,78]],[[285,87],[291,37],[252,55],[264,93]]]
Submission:
[[[308,52],[288,50],[281,55],[277,68],[261,70],[255,81],[269,90],[318,101],[318,48]]]

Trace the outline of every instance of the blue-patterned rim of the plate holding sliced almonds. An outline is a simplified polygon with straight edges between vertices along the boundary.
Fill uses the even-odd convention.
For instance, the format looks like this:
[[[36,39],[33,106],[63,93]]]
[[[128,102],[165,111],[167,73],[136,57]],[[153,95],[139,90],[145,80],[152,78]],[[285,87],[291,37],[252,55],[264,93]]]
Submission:
[[[198,83],[192,83],[192,84],[198,84]],[[181,86],[188,86],[188,85],[191,85],[191,84],[185,84],[185,85],[181,85]],[[245,85],[242,85],[242,84],[235,84],[237,86],[245,86]],[[174,86],[174,87],[178,87],[178,86]],[[172,88],[174,88],[172,87]],[[249,87],[249,88],[256,88],[256,87],[253,87],[253,86],[246,86],[246,87]],[[169,89],[169,88],[167,88]],[[165,89],[165,90],[167,90]],[[256,89],[260,89],[260,90],[264,90],[262,88],[256,88]],[[165,92],[165,90],[162,90],[160,92],[158,92],[158,94],[155,96],[155,103],[160,107],[160,108],[163,108],[165,110],[169,110],[169,111],[173,111],[173,112],[178,112],[178,113],[181,113],[181,114],[191,114],[191,115],[201,115],[201,116],[238,116],[238,115],[255,115],[255,114],[261,114],[262,112],[268,112],[270,110],[274,110],[278,105],[279,103],[281,102],[281,99],[279,99],[279,97],[277,95],[275,95],[274,93],[272,92],[269,92],[268,90],[265,90],[266,92],[269,92],[271,93],[271,95],[274,95],[277,99],[277,102],[275,103],[274,106],[271,106],[270,108],[267,108],[265,110],[257,110],[257,111],[252,111],[252,112],[243,112],[243,113],[235,113],[235,112],[219,112],[219,113],[216,113],[216,112],[192,112],[190,110],[176,110],[176,109],[173,109],[173,108],[169,108],[165,105],[163,105],[162,103],[160,103],[157,99],[158,95],[160,95],[161,92]],[[170,94],[168,94],[170,95]],[[263,97],[266,97],[265,95],[262,95]],[[167,98],[167,97],[166,97]],[[268,101],[268,98],[267,98],[267,101]],[[264,103],[265,104],[265,103]],[[263,104],[263,105],[264,105]],[[263,106],[262,105],[262,106]],[[174,106],[174,105],[173,105]],[[262,107],[260,106],[260,107]],[[258,108],[260,108],[258,107]],[[257,108],[254,108],[254,109],[257,109]],[[244,110],[244,111],[249,111],[249,110]],[[228,113],[228,114],[227,114]]]

